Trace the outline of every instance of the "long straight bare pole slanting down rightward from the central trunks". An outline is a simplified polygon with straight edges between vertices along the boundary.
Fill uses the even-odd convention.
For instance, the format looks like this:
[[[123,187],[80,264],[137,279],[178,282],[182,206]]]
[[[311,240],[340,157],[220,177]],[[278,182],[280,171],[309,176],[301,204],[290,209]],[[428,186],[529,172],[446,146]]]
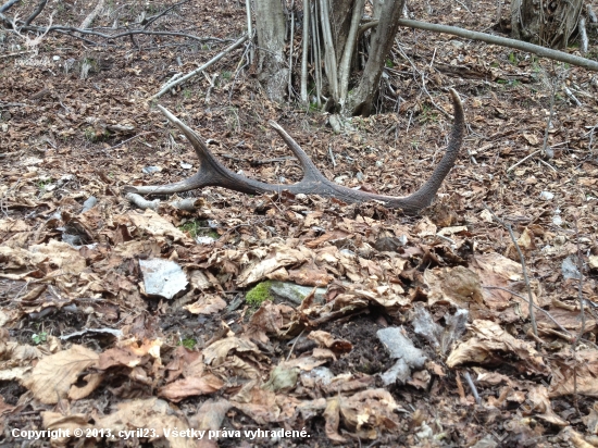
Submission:
[[[469,29],[458,28],[456,26],[437,25],[426,22],[410,21],[401,18],[399,25],[410,28],[424,29],[426,32],[446,33],[453,36],[463,37],[465,39],[481,40],[486,43],[498,45],[500,47],[514,48],[516,50],[526,51],[528,53],[537,54],[541,58],[552,59],[555,61],[566,62],[571,65],[577,65],[594,72],[598,72],[598,62],[591,61],[586,58],[569,54],[563,51],[551,50],[538,45],[523,42],[521,40],[508,39],[506,37],[493,36],[486,33],[470,32]]]

